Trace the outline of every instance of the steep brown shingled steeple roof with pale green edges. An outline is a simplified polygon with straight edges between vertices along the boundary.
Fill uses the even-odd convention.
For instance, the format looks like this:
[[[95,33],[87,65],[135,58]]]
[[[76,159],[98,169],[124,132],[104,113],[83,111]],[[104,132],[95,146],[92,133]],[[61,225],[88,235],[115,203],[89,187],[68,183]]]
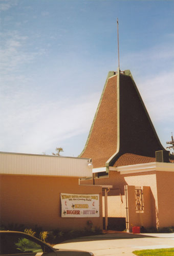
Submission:
[[[121,166],[153,162],[158,150],[164,148],[130,71],[109,72],[80,157],[94,167]]]

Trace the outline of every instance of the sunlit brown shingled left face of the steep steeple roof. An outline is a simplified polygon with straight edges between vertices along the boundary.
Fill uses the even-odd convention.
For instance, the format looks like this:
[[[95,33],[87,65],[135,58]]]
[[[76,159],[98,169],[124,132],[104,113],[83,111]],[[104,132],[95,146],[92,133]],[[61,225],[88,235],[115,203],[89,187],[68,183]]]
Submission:
[[[117,150],[117,76],[108,79],[94,127],[81,157],[93,159],[94,167],[103,167]]]

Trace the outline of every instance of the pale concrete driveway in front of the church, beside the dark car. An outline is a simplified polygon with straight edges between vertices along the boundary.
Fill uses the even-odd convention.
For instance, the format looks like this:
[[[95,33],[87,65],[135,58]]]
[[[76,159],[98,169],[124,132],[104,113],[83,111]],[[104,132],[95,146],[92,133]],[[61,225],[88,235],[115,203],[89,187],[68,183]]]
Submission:
[[[82,237],[54,246],[55,248],[91,251],[95,256],[135,256],[135,250],[174,247],[174,233],[133,234],[108,231],[90,237]]]

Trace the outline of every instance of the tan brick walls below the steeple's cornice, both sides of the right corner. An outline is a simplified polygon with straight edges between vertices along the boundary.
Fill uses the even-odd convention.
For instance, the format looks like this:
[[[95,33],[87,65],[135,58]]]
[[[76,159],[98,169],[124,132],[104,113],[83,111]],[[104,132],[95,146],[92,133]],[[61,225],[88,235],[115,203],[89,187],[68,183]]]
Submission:
[[[92,180],[86,181],[92,184]],[[85,181],[83,181],[83,184]],[[113,185],[119,188],[122,194],[121,203],[119,190],[108,193],[108,217],[125,217],[125,192],[128,186],[129,207],[128,216],[130,228],[132,225],[144,227],[174,226],[174,173],[150,171],[121,175],[119,172],[110,171],[107,178],[95,179],[95,184]],[[135,212],[135,186],[141,186],[144,191],[144,213]],[[103,199],[104,201],[104,199]],[[104,202],[103,202],[104,216]]]

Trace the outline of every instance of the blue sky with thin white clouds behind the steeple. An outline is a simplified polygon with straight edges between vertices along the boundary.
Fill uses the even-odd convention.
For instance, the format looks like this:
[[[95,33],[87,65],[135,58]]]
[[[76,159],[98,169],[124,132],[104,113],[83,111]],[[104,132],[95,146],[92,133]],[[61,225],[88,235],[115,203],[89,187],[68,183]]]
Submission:
[[[132,73],[174,135],[174,1],[0,0],[0,151],[83,150],[109,71]]]

